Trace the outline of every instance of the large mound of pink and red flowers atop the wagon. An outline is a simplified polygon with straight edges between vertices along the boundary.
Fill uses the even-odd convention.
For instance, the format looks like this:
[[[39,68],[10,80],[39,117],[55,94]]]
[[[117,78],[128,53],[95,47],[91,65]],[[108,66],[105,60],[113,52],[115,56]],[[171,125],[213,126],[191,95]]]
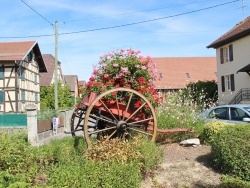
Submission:
[[[84,94],[125,87],[143,94],[156,107],[160,102],[154,81],[158,78],[156,65],[152,59],[140,55],[140,51],[132,49],[112,51],[100,57],[94,67]],[[137,100],[134,107],[138,108],[141,101]]]

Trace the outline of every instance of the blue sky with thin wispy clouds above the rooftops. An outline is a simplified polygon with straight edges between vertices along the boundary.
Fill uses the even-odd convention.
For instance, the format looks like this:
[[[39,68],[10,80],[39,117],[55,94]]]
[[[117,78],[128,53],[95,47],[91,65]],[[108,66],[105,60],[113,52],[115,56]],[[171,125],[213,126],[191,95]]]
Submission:
[[[113,50],[215,56],[206,46],[250,16],[250,0],[0,0],[0,12],[0,41],[35,40],[42,54],[55,54],[58,21],[63,74],[88,81]]]

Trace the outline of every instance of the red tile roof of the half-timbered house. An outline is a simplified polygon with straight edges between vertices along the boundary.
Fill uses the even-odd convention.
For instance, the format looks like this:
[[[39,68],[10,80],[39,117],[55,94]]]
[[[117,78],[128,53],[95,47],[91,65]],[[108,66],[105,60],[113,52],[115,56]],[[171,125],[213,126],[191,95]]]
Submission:
[[[46,72],[46,66],[36,41],[0,42],[0,61],[24,60],[31,50],[36,55],[39,71]]]

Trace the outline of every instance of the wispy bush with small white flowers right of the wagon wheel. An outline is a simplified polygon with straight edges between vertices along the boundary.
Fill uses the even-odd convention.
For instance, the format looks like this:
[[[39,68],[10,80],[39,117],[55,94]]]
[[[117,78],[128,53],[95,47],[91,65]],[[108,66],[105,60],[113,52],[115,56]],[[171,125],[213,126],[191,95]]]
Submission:
[[[173,142],[197,137],[204,126],[204,121],[199,119],[200,108],[191,104],[189,99],[182,103],[184,99],[182,92],[176,92],[168,95],[161,107],[157,109],[157,126],[160,129],[189,128],[195,130],[195,133],[171,133],[157,134],[157,140],[163,141],[170,139]]]

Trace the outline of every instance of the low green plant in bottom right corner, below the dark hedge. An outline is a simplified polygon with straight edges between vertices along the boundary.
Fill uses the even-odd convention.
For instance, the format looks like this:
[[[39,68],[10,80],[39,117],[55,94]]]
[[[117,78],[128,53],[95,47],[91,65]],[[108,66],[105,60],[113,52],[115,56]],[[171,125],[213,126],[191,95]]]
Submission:
[[[250,182],[243,181],[239,178],[223,176],[220,188],[250,188]]]

